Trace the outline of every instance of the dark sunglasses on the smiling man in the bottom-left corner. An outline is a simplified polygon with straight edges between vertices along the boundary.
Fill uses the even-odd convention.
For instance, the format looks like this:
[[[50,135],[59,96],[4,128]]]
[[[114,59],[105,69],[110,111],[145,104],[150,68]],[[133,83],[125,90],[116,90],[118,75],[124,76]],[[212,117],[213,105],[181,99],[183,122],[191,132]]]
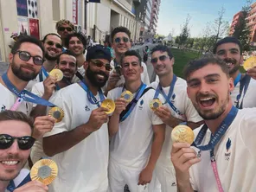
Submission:
[[[29,150],[35,143],[35,138],[32,138],[30,136],[16,138],[7,134],[0,134],[0,149],[6,150],[10,148],[10,146],[14,143],[15,139],[17,139],[20,150]]]

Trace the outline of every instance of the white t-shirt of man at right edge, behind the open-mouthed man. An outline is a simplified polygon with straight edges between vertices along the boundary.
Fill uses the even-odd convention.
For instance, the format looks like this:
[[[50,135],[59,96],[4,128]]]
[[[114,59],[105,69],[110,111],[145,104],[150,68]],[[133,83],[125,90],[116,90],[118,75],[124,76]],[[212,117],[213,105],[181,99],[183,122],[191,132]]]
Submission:
[[[237,104],[237,95],[240,93],[240,82],[234,87],[234,91],[231,93],[231,98],[233,100],[233,105]],[[246,95],[244,97],[244,91],[240,97],[240,103],[243,99],[243,108],[253,108],[256,107],[256,80],[251,78],[249,86],[246,91]]]

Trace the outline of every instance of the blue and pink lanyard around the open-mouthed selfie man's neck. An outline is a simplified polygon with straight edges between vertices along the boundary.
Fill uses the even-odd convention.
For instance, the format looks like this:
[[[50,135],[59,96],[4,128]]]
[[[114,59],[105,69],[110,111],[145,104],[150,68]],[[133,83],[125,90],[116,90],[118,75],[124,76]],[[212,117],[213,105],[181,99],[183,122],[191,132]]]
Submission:
[[[214,135],[211,136],[210,141],[207,145],[198,146],[199,144],[202,143],[202,139],[204,138],[208,130],[207,125],[202,126],[202,129],[199,131],[197,137],[195,138],[195,142],[192,144],[199,150],[210,150],[211,166],[214,171],[214,177],[217,182],[219,192],[223,192],[224,190],[222,189],[222,186],[221,186],[221,180],[218,174],[217,164],[214,157],[214,146],[221,140],[222,136],[225,134],[228,127],[232,124],[232,122],[234,121],[234,118],[237,115],[237,112],[238,112],[238,109],[232,106],[231,111],[227,114],[227,117],[221,122],[221,125],[219,126],[218,130],[214,133]]]

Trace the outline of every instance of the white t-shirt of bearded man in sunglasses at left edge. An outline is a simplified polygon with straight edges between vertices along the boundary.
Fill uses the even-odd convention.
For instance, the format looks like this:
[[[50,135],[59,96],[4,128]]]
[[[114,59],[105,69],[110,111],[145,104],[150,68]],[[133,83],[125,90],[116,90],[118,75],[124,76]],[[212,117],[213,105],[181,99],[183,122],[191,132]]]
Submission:
[[[15,104],[17,96],[10,92],[8,88],[0,83],[0,112],[4,110],[10,110],[10,108]],[[24,112],[29,115],[32,110],[32,103],[22,101],[21,105],[18,107],[18,112]]]

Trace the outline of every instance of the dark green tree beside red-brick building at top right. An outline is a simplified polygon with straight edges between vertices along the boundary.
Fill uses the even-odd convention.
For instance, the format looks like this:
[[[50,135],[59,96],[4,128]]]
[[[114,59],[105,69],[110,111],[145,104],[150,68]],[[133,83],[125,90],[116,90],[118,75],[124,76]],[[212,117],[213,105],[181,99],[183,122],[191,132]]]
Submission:
[[[239,21],[234,27],[234,34],[233,36],[238,38],[241,42],[242,49],[244,51],[250,50],[250,29],[246,22],[246,16],[249,14],[251,10],[251,0],[246,1],[246,5],[242,8],[242,16],[240,16]]]

